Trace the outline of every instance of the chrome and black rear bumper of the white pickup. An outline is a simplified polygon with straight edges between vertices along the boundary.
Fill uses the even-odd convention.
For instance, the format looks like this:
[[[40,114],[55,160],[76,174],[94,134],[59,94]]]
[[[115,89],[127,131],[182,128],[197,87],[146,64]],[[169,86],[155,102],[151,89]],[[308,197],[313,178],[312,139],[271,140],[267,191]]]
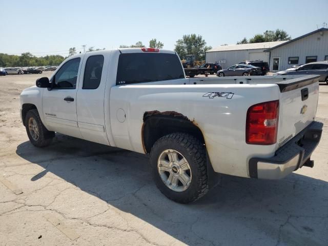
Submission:
[[[299,134],[279,148],[270,158],[251,158],[249,173],[251,178],[280,179],[302,166],[313,166],[312,152],[319,144],[323,124],[312,122]]]

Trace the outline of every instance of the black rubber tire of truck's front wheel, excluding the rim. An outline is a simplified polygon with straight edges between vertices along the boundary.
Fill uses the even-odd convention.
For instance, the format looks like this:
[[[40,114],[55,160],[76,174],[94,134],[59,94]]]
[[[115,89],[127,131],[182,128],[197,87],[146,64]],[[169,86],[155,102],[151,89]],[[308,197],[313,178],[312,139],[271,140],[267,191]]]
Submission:
[[[33,118],[36,121],[36,125],[38,128],[38,138],[33,139],[31,132],[29,130],[29,120]],[[46,147],[51,144],[53,137],[55,136],[54,132],[48,131],[46,127],[43,125],[39,113],[36,109],[32,109],[26,113],[25,116],[25,128],[27,132],[27,136],[29,137],[32,145],[35,147]]]

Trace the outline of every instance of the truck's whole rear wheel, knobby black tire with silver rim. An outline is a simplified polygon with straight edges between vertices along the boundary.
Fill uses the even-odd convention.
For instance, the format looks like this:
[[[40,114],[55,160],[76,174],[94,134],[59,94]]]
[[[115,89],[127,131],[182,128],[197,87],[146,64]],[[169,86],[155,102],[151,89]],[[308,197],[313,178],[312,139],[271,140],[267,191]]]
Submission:
[[[205,147],[190,134],[172,133],[158,139],[150,166],[157,188],[173,201],[193,202],[209,190]]]

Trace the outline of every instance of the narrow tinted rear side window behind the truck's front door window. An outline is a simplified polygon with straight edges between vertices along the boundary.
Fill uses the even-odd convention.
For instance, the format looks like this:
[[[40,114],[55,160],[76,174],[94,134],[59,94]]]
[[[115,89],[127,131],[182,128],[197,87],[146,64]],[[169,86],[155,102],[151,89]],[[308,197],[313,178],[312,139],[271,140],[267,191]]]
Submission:
[[[82,89],[97,89],[103,73],[104,56],[93,55],[87,59]]]

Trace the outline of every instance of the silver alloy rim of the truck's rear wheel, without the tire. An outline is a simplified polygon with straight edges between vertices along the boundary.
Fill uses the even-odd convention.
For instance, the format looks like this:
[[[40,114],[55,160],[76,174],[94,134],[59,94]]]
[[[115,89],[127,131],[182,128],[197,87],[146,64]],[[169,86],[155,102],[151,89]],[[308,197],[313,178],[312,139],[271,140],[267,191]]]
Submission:
[[[157,161],[157,170],[163,183],[173,191],[181,192],[191,184],[191,168],[187,159],[178,151],[163,151]]]

